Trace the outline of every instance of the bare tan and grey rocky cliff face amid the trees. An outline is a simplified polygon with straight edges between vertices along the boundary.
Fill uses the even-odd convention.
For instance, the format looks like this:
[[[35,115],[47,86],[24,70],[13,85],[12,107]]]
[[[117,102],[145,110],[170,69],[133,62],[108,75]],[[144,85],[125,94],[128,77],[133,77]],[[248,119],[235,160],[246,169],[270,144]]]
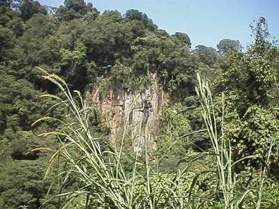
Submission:
[[[165,93],[160,90],[156,75],[150,79],[151,85],[142,91],[127,92],[114,86],[109,95],[101,95],[98,88],[93,88],[94,106],[100,111],[102,122],[110,128],[111,143],[123,132],[128,133],[136,153],[142,153],[145,142],[156,149],[156,124],[165,102]]]

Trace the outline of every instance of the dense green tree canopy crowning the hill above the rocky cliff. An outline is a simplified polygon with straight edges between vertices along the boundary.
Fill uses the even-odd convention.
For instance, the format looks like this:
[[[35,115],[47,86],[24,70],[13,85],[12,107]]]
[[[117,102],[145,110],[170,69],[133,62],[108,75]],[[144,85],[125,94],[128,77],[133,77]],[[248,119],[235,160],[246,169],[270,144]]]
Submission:
[[[29,3],[36,7],[36,2]],[[159,75],[165,90],[181,99],[184,93],[193,93],[195,67],[190,59],[190,38],[185,33],[169,36],[157,31],[138,10],[128,10],[124,17],[117,11],[99,15],[90,3],[71,0],[65,1],[55,15],[36,12],[29,16],[24,27],[20,21],[15,24],[11,20],[10,26],[3,28],[1,46],[3,59],[12,59],[19,76],[34,82],[36,88],[54,91],[50,83],[37,79],[31,70],[34,65],[45,66],[66,77],[73,88],[84,91],[89,82],[114,77],[112,69],[119,69],[121,64],[136,77],[117,74],[116,83],[123,83],[126,89],[145,86],[152,72]],[[15,33],[16,41],[11,40],[11,33]],[[10,47],[11,54],[6,50]],[[139,85],[130,85],[135,82]]]

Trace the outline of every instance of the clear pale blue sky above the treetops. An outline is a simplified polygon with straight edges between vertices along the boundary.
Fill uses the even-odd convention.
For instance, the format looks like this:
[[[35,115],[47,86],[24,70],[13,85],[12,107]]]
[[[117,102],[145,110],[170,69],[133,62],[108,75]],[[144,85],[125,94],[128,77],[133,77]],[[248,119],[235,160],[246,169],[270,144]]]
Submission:
[[[39,0],[42,5],[63,5],[63,0]],[[263,16],[271,36],[279,39],[279,0],[86,0],[104,10],[137,9],[170,35],[187,33],[192,47],[215,47],[224,38],[252,42],[250,23]]]

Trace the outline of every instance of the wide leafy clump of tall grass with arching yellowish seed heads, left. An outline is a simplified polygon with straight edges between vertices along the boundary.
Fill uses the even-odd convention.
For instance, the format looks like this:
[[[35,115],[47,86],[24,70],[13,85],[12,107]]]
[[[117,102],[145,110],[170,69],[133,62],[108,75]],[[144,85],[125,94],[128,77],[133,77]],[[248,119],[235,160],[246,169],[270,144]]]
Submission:
[[[79,101],[73,98],[66,82],[56,75],[50,75],[41,68],[37,68],[45,75],[44,79],[53,82],[63,93],[65,99],[54,95],[43,95],[44,97],[56,98],[59,104],[63,105],[70,111],[70,115],[75,118],[73,123],[66,123],[58,118],[40,118],[36,123],[45,120],[58,121],[63,126],[63,131],[59,137],[61,147],[50,158],[50,165],[45,173],[45,177],[49,173],[54,160],[57,157],[63,157],[67,162],[67,169],[77,176],[82,187],[73,192],[59,194],[66,196],[67,201],[61,208],[67,208],[68,205],[80,196],[86,197],[86,206],[106,206],[116,208],[130,208],[131,189],[127,187],[130,182],[126,178],[120,162],[120,153],[110,148],[103,150],[101,147],[101,139],[94,137],[91,133],[89,125],[89,112],[91,109],[86,107],[79,91],[76,93]],[[79,102],[79,104],[77,103]],[[79,108],[80,106],[80,108]],[[43,135],[54,134],[55,132],[47,132]],[[57,135],[57,134],[56,134]],[[117,169],[115,169],[117,168]],[[62,171],[65,172],[65,171]],[[61,175],[61,173],[59,173]],[[91,199],[94,194],[96,199]]]

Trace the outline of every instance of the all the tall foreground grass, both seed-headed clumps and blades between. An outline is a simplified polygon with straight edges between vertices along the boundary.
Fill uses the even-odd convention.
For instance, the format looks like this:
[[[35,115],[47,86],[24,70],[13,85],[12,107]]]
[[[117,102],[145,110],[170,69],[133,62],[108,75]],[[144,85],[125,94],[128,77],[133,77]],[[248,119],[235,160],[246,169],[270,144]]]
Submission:
[[[141,162],[138,153],[135,153],[133,169],[131,172],[126,171],[122,159],[126,126],[119,148],[110,145],[103,146],[104,139],[91,130],[89,114],[92,109],[86,106],[81,93],[73,91],[73,95],[61,77],[49,74],[42,68],[36,68],[43,73],[44,79],[56,84],[62,93],[61,97],[50,94],[42,95],[42,97],[56,99],[57,105],[63,105],[68,110],[72,120],[69,123],[66,120],[45,116],[32,124],[33,126],[36,123],[50,120],[60,124],[59,130],[40,134],[42,137],[55,135],[60,144],[59,148],[56,150],[34,149],[53,152],[45,178],[56,163],[60,165],[57,178],[61,187],[66,188],[65,185],[71,177],[79,183],[75,189],[71,191],[61,189],[60,194],[56,195],[61,198],[59,208],[203,208],[206,203],[211,203],[212,206],[212,203],[214,204],[216,201],[216,196],[220,196],[221,193],[220,199],[223,208],[232,209],[238,208],[248,194],[249,190],[240,196],[235,195],[234,165],[237,162],[233,162],[232,146],[224,137],[223,121],[220,133],[218,133],[209,84],[199,75],[197,75],[199,88],[196,90],[197,95],[201,98],[202,116],[211,139],[216,160],[218,185],[220,185],[217,193],[210,195],[207,194],[207,191],[201,191],[197,185],[200,173],[190,172],[188,167],[178,169],[176,173],[172,174],[160,173],[159,164],[155,166],[154,163],[151,164],[146,128],[144,133],[140,133],[140,136],[144,135],[145,140],[144,162]],[[225,95],[222,97],[222,103],[224,114]],[[130,111],[132,109],[133,105]],[[194,159],[198,159],[199,156],[196,155]],[[63,162],[63,166],[61,162]],[[156,166],[157,169],[152,169]],[[265,171],[264,169],[263,176]],[[261,185],[263,184],[264,178],[261,181]],[[209,193],[212,192],[209,191]],[[257,206],[260,206],[261,195],[262,187],[259,191]]]

